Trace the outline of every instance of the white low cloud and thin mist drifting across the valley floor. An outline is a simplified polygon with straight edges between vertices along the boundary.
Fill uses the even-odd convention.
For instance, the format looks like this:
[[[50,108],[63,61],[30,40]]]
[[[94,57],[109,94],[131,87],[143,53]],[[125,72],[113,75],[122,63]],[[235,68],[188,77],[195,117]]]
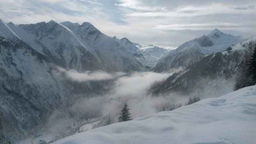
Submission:
[[[229,91],[232,91],[231,89],[227,88],[227,85],[231,86],[230,88],[232,88],[234,81],[211,81],[209,86],[204,86],[203,91],[198,89],[189,95],[169,93],[166,95],[152,97],[150,93],[148,93],[150,87],[155,82],[163,81],[174,72],[178,72],[179,69],[169,73],[132,72],[130,74],[123,72],[111,74],[102,71],[87,71],[79,73],[75,70],[64,70],[62,68],[59,68],[59,71],[59,73],[64,73],[65,77],[79,82],[113,79],[113,81],[111,81],[106,88],[108,89],[107,92],[94,97],[79,98],[76,100],[77,102],[74,102],[74,104],[68,110],[74,117],[88,118],[90,120],[92,120],[92,118],[100,118],[110,114],[112,123],[117,121],[117,117],[120,114],[120,110],[125,102],[128,103],[128,106],[131,109],[131,118],[135,119],[155,113],[157,104],[160,104],[169,98],[171,98],[176,104],[181,102],[184,105],[189,96],[200,96],[201,98],[207,98],[223,95]],[[218,85],[220,85],[220,87],[217,88],[216,86]],[[222,87],[225,87],[225,89]],[[214,95],[209,95],[211,93],[214,93]],[[74,119],[68,116],[67,111],[64,111],[63,113],[65,113],[63,115],[65,115],[67,118],[63,118],[63,125],[58,125],[58,128],[64,125],[70,125],[70,122],[72,123],[72,121],[74,121]],[[58,119],[59,115],[62,115],[61,112],[56,111],[56,113],[51,116],[51,124],[57,125],[54,121],[62,121]]]

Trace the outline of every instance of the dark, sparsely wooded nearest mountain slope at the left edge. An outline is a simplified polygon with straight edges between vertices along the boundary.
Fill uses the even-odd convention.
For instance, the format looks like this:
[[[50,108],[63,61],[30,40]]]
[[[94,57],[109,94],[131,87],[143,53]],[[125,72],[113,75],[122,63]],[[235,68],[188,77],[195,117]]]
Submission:
[[[69,111],[79,97],[101,93],[106,86],[104,81],[67,79],[58,66],[22,41],[0,38],[1,143],[45,130],[55,110]]]

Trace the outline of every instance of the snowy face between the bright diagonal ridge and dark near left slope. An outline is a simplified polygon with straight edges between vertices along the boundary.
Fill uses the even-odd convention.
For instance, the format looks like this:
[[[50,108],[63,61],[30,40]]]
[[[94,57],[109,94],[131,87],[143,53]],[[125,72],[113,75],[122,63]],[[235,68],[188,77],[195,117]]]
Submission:
[[[85,49],[67,29],[54,21],[30,24],[33,29],[31,28],[29,32],[24,31],[24,29],[29,30],[24,25],[17,26],[11,22],[4,24],[2,21],[0,24],[0,31],[3,31],[1,33],[4,36],[8,35],[6,38],[13,42],[19,40],[25,42],[63,68],[78,71],[102,69],[102,65],[95,56]]]

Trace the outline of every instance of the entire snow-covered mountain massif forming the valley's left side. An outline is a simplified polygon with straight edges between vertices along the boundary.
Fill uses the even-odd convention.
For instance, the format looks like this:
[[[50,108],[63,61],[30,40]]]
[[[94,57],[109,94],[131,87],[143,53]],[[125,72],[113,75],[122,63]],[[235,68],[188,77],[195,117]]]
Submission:
[[[0,143],[40,132],[54,111],[69,111],[77,99],[101,94],[110,83],[73,81],[65,70],[80,74],[144,68],[125,47],[87,22],[14,25],[0,20]]]

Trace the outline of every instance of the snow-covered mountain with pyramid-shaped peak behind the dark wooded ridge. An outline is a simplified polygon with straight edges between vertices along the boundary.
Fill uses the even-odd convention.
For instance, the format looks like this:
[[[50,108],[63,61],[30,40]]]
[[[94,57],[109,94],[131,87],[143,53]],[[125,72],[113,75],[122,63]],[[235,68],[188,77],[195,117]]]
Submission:
[[[228,47],[244,41],[241,36],[225,34],[214,29],[209,35],[203,35],[185,42],[157,63],[155,72],[167,72],[172,68],[187,67],[203,57],[226,50]]]

